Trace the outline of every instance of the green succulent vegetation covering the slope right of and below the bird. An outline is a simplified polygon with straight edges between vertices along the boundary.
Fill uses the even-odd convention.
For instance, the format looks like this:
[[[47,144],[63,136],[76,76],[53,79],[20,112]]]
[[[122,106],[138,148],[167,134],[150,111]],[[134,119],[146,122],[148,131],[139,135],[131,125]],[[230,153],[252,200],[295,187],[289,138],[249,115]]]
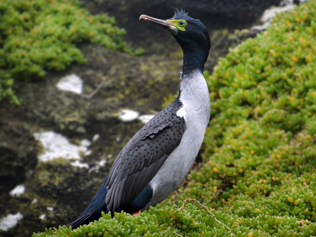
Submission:
[[[178,196],[139,216],[103,214],[77,230],[33,236],[316,235],[315,15],[316,1],[278,15],[205,73],[205,164]],[[170,204],[188,197],[221,223],[196,203]]]

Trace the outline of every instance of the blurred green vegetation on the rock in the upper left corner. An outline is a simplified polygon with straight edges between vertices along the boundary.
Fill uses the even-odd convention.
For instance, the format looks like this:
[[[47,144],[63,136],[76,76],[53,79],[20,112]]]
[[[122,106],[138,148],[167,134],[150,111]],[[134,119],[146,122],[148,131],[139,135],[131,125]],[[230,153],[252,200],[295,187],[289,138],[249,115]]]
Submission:
[[[124,29],[105,14],[91,15],[77,0],[0,0],[0,100],[18,104],[13,81],[43,78],[85,59],[76,47],[90,42],[139,54],[120,36]]]

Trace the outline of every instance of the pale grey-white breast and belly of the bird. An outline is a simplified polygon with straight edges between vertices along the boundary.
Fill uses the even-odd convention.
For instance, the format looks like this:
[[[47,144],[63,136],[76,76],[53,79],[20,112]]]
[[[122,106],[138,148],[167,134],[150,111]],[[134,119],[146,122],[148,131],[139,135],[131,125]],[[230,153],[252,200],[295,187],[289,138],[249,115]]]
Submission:
[[[181,142],[151,180],[153,197],[143,210],[167,198],[189,172],[202,145],[210,119],[210,94],[204,76],[195,71],[186,75],[180,84],[179,100],[183,106],[177,111],[185,119],[185,132]]]

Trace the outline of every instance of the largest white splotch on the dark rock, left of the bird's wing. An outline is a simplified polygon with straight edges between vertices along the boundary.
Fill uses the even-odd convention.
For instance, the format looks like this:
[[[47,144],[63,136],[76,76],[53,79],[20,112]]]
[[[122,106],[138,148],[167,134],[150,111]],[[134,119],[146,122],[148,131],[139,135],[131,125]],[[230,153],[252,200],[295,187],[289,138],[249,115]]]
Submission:
[[[90,145],[90,142],[86,139],[82,140],[78,146],[71,144],[66,137],[53,131],[35,132],[33,136],[36,140],[41,141],[45,149],[45,152],[38,156],[39,161],[42,162],[56,158],[79,160],[80,153],[89,153],[87,146]]]

